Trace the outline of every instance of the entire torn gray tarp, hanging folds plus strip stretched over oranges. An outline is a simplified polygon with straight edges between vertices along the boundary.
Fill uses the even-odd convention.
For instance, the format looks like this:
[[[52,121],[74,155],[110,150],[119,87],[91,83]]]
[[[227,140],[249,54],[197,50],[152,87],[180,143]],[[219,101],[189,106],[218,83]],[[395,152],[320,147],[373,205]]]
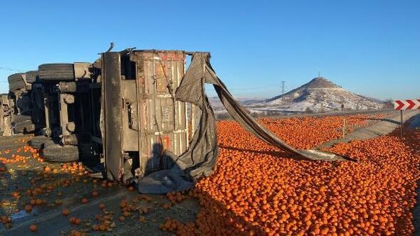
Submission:
[[[156,171],[142,178],[139,182],[141,193],[184,191],[190,188],[198,178],[209,176],[214,171],[218,156],[216,118],[204,93],[205,83],[214,85],[221,102],[236,122],[266,143],[289,154],[294,154],[296,159],[313,159],[313,157],[319,156],[318,154],[326,155],[327,158],[335,156],[315,150],[295,150],[258,124],[216,76],[209,59],[209,53],[194,53],[191,65],[182,78],[175,95],[177,100],[196,104],[202,111],[199,128],[191,139],[189,149],[179,157],[166,153],[174,161],[174,166],[169,170]]]

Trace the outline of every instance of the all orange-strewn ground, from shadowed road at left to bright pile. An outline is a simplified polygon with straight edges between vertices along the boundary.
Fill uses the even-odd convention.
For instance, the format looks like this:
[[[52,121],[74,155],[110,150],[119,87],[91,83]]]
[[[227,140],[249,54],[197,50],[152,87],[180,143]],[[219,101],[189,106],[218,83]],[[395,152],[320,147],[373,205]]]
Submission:
[[[347,117],[348,130],[387,114]],[[419,117],[419,116],[417,116]],[[260,119],[297,149],[342,135],[342,117]],[[233,121],[217,127],[216,171],[184,193],[142,195],[130,187],[90,178],[83,165],[46,164],[42,152],[16,140],[1,151],[0,220],[5,234],[46,235],[42,212],[58,212],[64,235],[412,235],[420,178],[420,131],[406,124],[365,141],[328,151],[357,161],[303,161],[264,144]],[[112,195],[121,193],[121,198]],[[107,198],[105,198],[107,197]],[[196,204],[198,203],[198,204]],[[83,208],[95,210],[83,211]],[[22,230],[14,230],[12,217]],[[28,219],[28,220],[25,220]],[[22,226],[24,225],[24,226]],[[26,230],[26,231],[25,231]]]

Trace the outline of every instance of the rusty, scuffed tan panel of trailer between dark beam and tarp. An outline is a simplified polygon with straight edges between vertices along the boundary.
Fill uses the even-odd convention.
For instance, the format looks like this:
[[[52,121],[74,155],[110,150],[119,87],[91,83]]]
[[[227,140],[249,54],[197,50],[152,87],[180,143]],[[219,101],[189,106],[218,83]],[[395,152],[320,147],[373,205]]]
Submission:
[[[138,51],[140,70],[140,127],[142,151],[140,163],[147,174],[169,165],[162,159],[167,149],[182,154],[187,149],[186,104],[174,100],[185,71],[185,54],[182,51]],[[141,59],[140,59],[141,58]]]

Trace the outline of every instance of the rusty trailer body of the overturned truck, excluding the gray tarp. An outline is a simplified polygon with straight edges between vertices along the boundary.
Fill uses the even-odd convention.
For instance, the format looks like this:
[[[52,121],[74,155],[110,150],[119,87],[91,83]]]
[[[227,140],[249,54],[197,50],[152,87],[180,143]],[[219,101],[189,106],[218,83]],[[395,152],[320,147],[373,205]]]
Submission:
[[[107,178],[126,182],[170,168],[164,152],[180,155],[188,149],[200,110],[174,97],[186,59],[181,50],[102,53],[98,85],[91,86],[92,140],[103,147]],[[95,108],[98,95],[101,109]]]

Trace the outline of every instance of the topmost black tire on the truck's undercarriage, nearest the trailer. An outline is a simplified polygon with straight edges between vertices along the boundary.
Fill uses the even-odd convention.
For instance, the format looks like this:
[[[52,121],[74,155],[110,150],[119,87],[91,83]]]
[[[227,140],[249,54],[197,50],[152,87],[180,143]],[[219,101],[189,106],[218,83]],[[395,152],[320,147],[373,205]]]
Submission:
[[[38,67],[39,79],[50,80],[74,80],[73,63],[51,63],[42,64]]]

